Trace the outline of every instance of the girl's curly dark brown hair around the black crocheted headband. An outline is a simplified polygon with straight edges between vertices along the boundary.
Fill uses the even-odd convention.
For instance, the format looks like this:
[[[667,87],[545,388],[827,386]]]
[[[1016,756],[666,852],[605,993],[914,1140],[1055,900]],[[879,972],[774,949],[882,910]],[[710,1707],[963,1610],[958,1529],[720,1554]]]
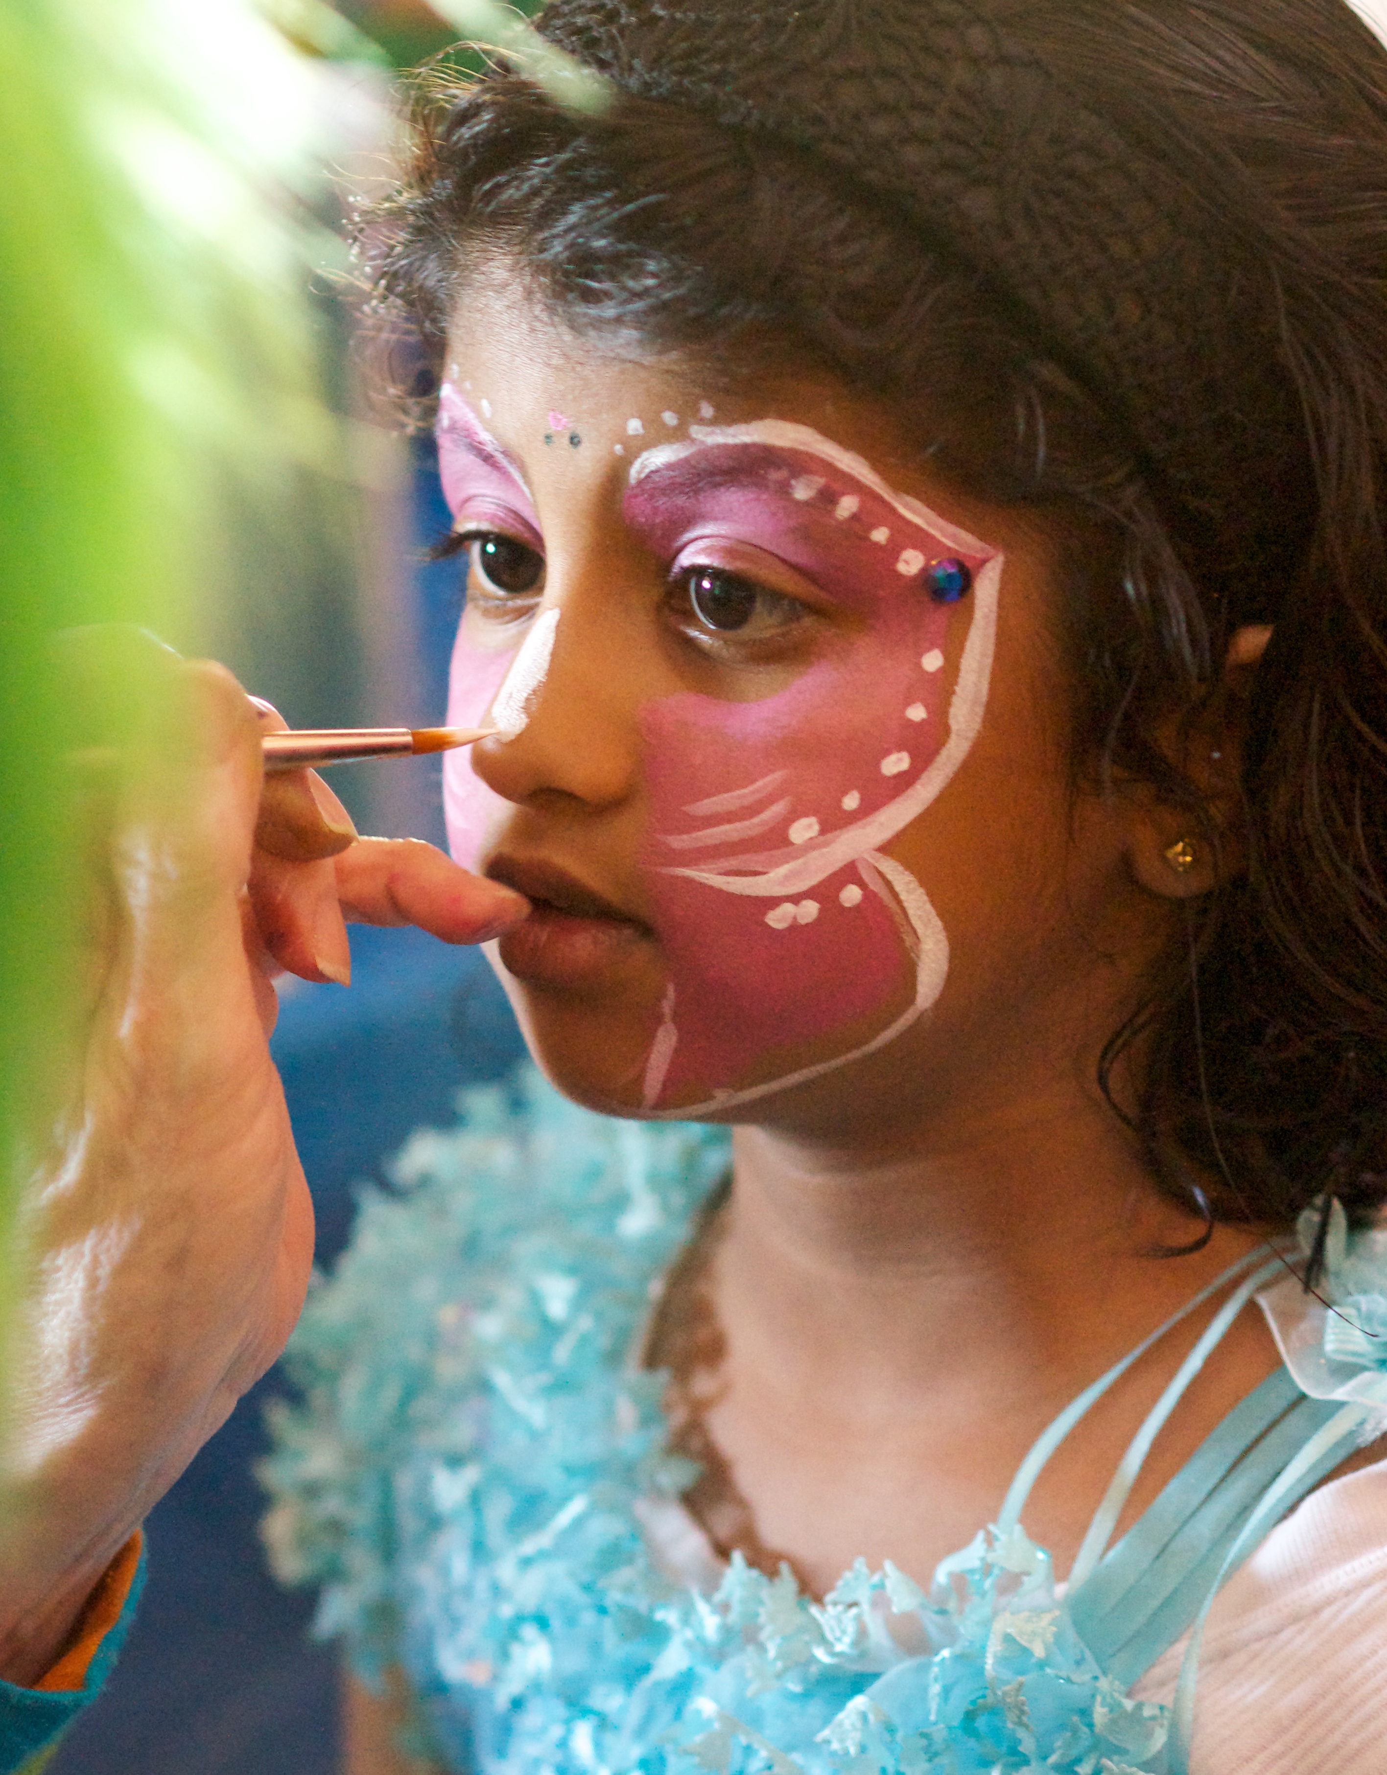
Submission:
[[[501,247],[577,328],[710,373],[808,359],[897,405],[941,474],[1060,538],[1076,786],[1153,785],[1213,845],[1225,818],[1172,721],[1211,706],[1234,630],[1273,625],[1247,863],[1190,903],[1103,1088],[1117,1106],[1140,1054],[1119,1113],[1185,1207],[1202,1175],[1217,1219],[1286,1227],[1337,1196],[1364,1223],[1387,1198],[1387,53],[1343,0],[1117,0],[1101,43],[1087,0],[1023,16],[1062,75],[1098,53],[1240,243],[1298,433],[1248,465],[1270,540],[1172,501],[1105,389],[947,231],[668,98],[575,115],[504,71],[424,73],[408,174],[364,229],[378,312],[437,376],[469,252]]]

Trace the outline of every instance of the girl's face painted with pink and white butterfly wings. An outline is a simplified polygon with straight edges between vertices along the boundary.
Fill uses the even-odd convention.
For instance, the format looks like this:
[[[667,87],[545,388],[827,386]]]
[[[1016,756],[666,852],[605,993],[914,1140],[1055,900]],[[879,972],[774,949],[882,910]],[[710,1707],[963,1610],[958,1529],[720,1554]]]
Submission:
[[[504,730],[449,836],[536,902],[497,962],[563,1090],[836,1124],[1073,1024],[1121,859],[1090,811],[1074,848],[1039,534],[829,378],[714,392],[519,280],[464,302],[439,446],[449,719]]]

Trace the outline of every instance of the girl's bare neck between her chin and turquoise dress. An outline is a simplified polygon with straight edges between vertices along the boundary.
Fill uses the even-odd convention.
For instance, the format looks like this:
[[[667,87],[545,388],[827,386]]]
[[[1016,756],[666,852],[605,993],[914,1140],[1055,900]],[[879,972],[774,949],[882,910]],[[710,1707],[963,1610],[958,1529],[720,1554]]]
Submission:
[[[1064,1402],[1261,1234],[1158,1193],[1103,1102],[1035,1099],[929,1141],[739,1129],[719,1299],[787,1377],[854,1415],[941,1388]]]

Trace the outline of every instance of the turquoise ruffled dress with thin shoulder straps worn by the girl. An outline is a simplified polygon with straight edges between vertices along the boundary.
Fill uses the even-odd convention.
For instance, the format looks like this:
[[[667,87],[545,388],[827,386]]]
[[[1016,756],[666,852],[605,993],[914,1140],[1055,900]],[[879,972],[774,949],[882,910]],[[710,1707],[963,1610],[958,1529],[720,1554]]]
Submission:
[[[707,1583],[678,1582],[643,1523],[677,1507],[693,1471],[666,1448],[662,1379],[632,1351],[726,1164],[721,1131],[613,1122],[533,1076],[513,1095],[471,1093],[456,1131],[414,1136],[398,1195],[364,1200],[309,1299],[289,1354],[302,1404],[277,1413],[263,1473],[272,1558],[321,1587],[318,1631],[348,1642],[368,1683],[405,1670],[414,1748],[456,1771],[1181,1775],[1202,1613],[1376,1422],[1371,1347],[1330,1351],[1307,1377],[1327,1356],[1296,1321],[1291,1367],[1110,1546],[1160,1424],[1282,1273],[1264,1251],[1234,1266],[1062,1592],[1025,1500],[1140,1349],[1051,1425],[998,1521],[929,1592],[890,1562],[858,1562],[822,1603],[735,1557]],[[1337,1221],[1335,1237],[1346,1264]],[[915,1617],[913,1633],[892,1615]],[[1133,1700],[1192,1628],[1174,1708]]]

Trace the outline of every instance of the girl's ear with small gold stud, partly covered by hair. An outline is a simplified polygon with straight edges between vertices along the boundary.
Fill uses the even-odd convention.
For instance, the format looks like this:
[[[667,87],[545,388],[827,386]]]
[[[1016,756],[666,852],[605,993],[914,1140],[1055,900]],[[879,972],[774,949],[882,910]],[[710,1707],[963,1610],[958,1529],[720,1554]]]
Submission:
[[[1229,643],[1218,694],[1193,722],[1176,721],[1165,735],[1170,761],[1190,777],[1215,820],[1215,834],[1181,808],[1137,795],[1128,806],[1128,864],[1147,893],[1195,900],[1236,875],[1247,845],[1241,827],[1241,761],[1247,701],[1272,630],[1240,628]]]

